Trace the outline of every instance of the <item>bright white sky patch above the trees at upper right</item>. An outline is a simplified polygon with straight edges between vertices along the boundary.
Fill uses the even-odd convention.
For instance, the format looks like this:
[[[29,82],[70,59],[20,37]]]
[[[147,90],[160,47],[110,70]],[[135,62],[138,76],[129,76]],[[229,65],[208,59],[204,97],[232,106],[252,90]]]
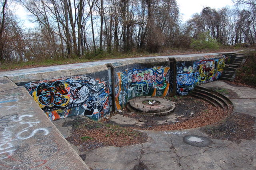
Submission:
[[[179,8],[180,14],[183,21],[191,18],[195,13],[200,13],[204,7],[209,6],[210,8],[223,8],[225,6],[233,6],[232,0],[176,0]]]

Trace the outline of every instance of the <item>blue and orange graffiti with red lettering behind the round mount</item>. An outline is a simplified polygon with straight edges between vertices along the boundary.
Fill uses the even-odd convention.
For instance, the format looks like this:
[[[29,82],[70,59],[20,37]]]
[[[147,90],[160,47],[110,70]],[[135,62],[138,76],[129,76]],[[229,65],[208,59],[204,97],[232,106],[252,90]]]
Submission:
[[[166,96],[169,90],[170,67],[126,69],[116,71],[115,102],[117,109],[138,96]]]

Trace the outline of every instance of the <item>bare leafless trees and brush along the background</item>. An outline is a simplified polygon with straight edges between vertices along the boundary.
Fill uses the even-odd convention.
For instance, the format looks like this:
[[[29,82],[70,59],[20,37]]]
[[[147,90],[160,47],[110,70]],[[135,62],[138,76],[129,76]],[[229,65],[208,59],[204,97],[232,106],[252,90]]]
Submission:
[[[10,10],[24,6],[35,28]],[[0,0],[0,63],[93,59],[106,53],[249,47],[256,43],[256,0],[234,9],[205,7],[185,23],[176,0]]]

